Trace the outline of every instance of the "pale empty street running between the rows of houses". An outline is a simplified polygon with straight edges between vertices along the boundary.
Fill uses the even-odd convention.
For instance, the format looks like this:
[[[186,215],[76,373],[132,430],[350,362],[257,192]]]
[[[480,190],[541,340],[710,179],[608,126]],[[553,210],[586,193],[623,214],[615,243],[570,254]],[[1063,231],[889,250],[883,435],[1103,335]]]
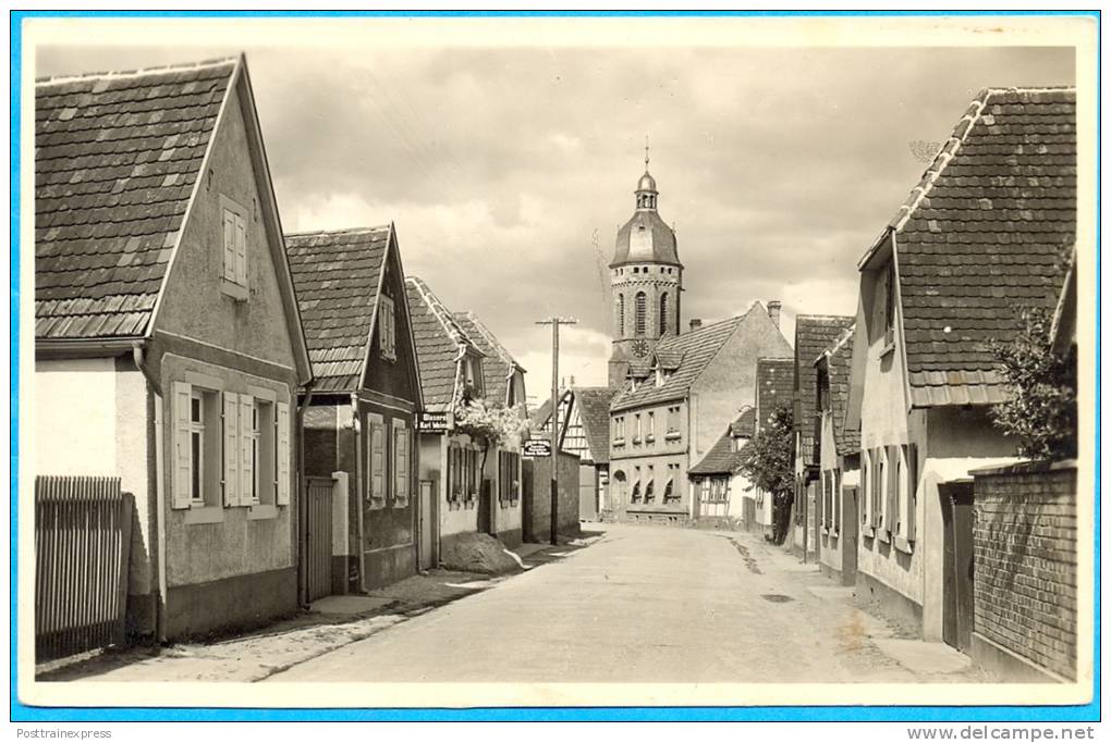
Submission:
[[[955,651],[892,638],[848,589],[754,536],[604,529],[562,560],[268,681],[974,680]],[[925,664],[877,643],[911,658],[924,649]]]

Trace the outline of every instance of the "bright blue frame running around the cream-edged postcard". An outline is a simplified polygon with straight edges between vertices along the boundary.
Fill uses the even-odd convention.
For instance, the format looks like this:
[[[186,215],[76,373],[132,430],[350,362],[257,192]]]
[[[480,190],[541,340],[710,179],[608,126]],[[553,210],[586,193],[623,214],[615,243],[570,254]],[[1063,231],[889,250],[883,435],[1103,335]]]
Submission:
[[[684,18],[787,18],[818,17],[937,17],[937,16],[1055,16],[1088,17],[1097,24],[1097,100],[1102,100],[1100,88],[1100,11],[11,11],[11,257],[9,288],[11,291],[11,493],[18,492],[19,472],[19,201],[20,201],[20,96],[23,20],[28,18],[627,18],[627,17],[684,17]],[[352,722],[352,721],[747,721],[747,722],[1098,722],[1101,701],[1101,605],[1100,581],[1100,142],[1101,111],[1095,110],[1095,543],[1094,543],[1094,630],[1092,701],[1085,705],[1061,706],[681,706],[681,708],[470,708],[470,709],[394,709],[337,710],[337,709],[216,709],[216,708],[42,708],[28,706],[19,701],[17,678],[18,628],[16,621],[18,576],[19,499],[11,498],[9,572],[11,593],[11,655],[10,655],[10,719],[12,722]]]

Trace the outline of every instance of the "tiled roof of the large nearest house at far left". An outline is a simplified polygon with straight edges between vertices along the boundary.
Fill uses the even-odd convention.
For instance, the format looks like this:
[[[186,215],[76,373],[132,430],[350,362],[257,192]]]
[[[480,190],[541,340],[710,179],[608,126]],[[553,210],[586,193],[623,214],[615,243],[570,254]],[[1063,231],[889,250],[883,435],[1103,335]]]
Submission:
[[[236,60],[34,86],[34,334],[141,336]]]

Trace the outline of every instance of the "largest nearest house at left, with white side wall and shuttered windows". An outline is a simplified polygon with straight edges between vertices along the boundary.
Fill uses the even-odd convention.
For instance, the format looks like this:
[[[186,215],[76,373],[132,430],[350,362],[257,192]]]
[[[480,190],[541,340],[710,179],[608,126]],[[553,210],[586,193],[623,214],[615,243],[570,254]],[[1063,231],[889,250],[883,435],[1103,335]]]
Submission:
[[[130,630],[297,611],[311,379],[243,57],[34,86],[36,475],[134,497]]]

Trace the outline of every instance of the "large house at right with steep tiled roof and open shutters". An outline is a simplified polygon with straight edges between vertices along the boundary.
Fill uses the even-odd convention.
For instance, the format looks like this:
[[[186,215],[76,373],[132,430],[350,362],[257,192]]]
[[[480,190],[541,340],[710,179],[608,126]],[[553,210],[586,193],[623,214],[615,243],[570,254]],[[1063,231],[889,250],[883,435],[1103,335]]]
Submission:
[[[847,428],[861,438],[858,597],[929,640],[962,611],[969,471],[1013,461],[988,346],[1052,307],[1075,241],[1073,89],[985,89],[861,258]]]

